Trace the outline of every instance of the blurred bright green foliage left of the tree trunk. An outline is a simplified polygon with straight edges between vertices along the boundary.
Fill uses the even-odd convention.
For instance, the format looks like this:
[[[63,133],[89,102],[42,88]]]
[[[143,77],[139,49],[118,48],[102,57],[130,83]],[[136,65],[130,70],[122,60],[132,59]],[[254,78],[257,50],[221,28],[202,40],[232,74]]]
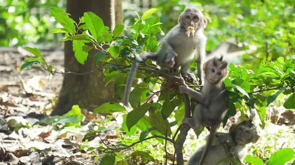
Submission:
[[[59,0],[2,0],[0,5],[0,46],[21,46],[28,42],[54,41],[56,36],[48,35],[49,29],[57,26],[49,14],[31,15],[36,7],[45,10],[57,6]],[[59,4],[60,6],[60,4]],[[39,17],[39,18],[38,18]],[[64,30],[60,29],[60,32]],[[57,33],[57,29],[55,33]]]

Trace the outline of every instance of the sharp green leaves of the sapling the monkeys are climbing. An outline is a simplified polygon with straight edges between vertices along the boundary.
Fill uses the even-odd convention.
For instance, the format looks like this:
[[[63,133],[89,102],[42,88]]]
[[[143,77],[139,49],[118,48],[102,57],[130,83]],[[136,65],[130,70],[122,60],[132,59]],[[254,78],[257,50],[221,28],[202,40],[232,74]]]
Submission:
[[[137,72],[136,78],[140,78],[142,82],[133,85],[134,90],[130,94],[130,104],[133,110],[127,112],[125,107],[116,103],[117,99],[123,98],[127,73],[134,57],[145,50],[155,52],[159,47],[156,35],[164,35],[160,28],[160,18],[158,16],[150,17],[156,9],[150,9],[141,18],[138,15],[138,18],[134,19],[135,23],[128,27],[131,37],[119,36],[123,25],[118,23],[114,31],[110,32],[109,27],[104,26],[103,21],[91,12],[84,13],[80,22],[76,23],[68,13],[59,8],[51,8],[50,11],[63,26],[62,30],[54,29],[53,32],[65,33],[63,41],[73,41],[73,51],[75,51],[77,61],[84,64],[89,58],[88,51],[90,49],[99,50],[100,52],[94,56],[94,61],[99,65],[98,68],[103,67],[106,85],[110,81],[115,81],[114,101],[101,105],[94,110],[94,113],[123,113],[122,128],[129,137],[135,134],[137,128],[141,130],[139,141],[157,138],[161,143],[164,142],[163,139],[175,142],[176,135],[172,134],[171,127],[177,123],[177,120],[181,121],[184,116],[184,111],[181,111],[184,107],[182,94],[177,88],[167,89],[165,87],[167,85],[165,77],[160,76],[159,70],[150,60],[147,61],[147,64],[141,65]],[[82,34],[78,34],[78,30],[81,30]],[[104,49],[103,46],[108,46],[108,48]],[[25,61],[22,69],[29,69],[32,64],[41,65],[40,62],[43,62],[47,67],[42,66],[43,68],[51,73],[55,72],[52,71],[51,65],[47,65],[44,61],[38,49],[28,49],[39,58]],[[292,94],[295,92],[294,66],[295,60],[284,57],[262,62],[256,71],[249,70],[249,65],[236,67],[231,64],[229,76],[224,80],[227,90],[230,92],[228,115],[235,116],[236,110],[239,110],[242,114],[241,120],[243,120],[249,109],[252,118],[256,113],[258,114],[262,127],[264,127],[266,106],[278,97],[288,97],[284,106],[295,108],[295,105],[291,103],[295,101],[295,96]],[[196,66],[192,65],[192,67]],[[194,86],[192,87],[194,88]],[[153,92],[151,88],[158,91]],[[148,103],[153,95],[159,96],[157,103]],[[171,122],[168,118],[176,108],[179,113],[177,120]],[[226,124],[227,118],[225,118],[224,124]],[[149,133],[150,137],[148,137]],[[125,147],[127,148],[127,146]],[[126,159],[123,158],[118,160],[116,157],[115,161],[114,155],[116,154],[114,153],[116,150],[126,148],[115,146],[104,149],[107,154],[102,157],[101,165],[114,165],[116,161],[125,164]],[[155,161],[148,152],[144,151],[135,151],[130,155],[130,157],[132,156],[140,156],[141,161],[144,162]]]

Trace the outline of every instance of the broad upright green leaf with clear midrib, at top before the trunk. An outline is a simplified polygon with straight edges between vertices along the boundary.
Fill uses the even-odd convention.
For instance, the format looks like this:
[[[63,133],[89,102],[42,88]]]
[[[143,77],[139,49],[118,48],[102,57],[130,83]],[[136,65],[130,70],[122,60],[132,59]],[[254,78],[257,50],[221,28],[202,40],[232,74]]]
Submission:
[[[84,13],[84,20],[93,38],[100,41],[102,33],[107,31],[104,28],[103,21],[92,12]]]

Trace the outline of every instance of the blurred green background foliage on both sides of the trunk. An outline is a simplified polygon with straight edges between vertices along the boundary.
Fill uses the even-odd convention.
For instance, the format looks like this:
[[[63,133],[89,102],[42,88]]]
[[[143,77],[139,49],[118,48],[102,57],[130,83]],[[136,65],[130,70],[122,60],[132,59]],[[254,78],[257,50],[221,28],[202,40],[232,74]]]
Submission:
[[[43,48],[60,47],[62,36],[49,34],[60,27],[49,8],[64,8],[66,0],[0,0],[0,4],[0,46],[42,43]],[[257,47],[240,59],[253,68],[263,60],[295,58],[294,0],[123,0],[125,29],[135,22],[134,10],[142,14],[154,7],[167,33],[186,6],[198,6],[208,20],[208,53],[234,39],[240,50]],[[129,36],[128,30],[124,32]],[[160,40],[162,36],[157,37]]]

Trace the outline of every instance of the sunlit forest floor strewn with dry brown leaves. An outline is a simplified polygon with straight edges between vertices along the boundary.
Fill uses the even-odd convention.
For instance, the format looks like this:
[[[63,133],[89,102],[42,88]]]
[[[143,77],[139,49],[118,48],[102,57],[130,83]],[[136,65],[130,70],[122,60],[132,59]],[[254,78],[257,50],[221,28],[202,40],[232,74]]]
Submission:
[[[63,71],[61,49],[41,53],[48,63]],[[59,129],[42,120],[48,117],[57,101],[63,76],[52,76],[36,65],[30,70],[20,71],[27,57],[32,55],[24,48],[0,47],[0,165],[98,165],[95,160],[97,154],[80,151],[81,145],[97,147],[103,145],[102,141],[116,144],[120,142],[117,140],[119,135],[116,131],[108,134],[101,132],[99,138],[83,143],[77,134],[78,130],[71,130],[75,127]],[[104,116],[93,115],[87,110],[82,110],[82,113],[86,116],[81,124],[84,130],[88,130],[90,123],[95,123],[94,119],[105,120]],[[267,108],[267,118],[265,129],[259,130],[261,138],[255,146],[259,146],[260,151],[256,155],[267,159],[280,148],[295,149],[294,111],[286,110],[279,102],[274,102]],[[232,123],[237,120],[237,117],[231,118]],[[257,116],[257,125],[259,121]],[[116,130],[116,127],[118,124],[113,124],[108,129]],[[227,129],[220,128],[220,131]],[[205,134],[196,140],[194,132],[189,132],[184,144],[186,159],[205,143],[202,139]],[[249,147],[250,152],[254,150],[252,146]]]

